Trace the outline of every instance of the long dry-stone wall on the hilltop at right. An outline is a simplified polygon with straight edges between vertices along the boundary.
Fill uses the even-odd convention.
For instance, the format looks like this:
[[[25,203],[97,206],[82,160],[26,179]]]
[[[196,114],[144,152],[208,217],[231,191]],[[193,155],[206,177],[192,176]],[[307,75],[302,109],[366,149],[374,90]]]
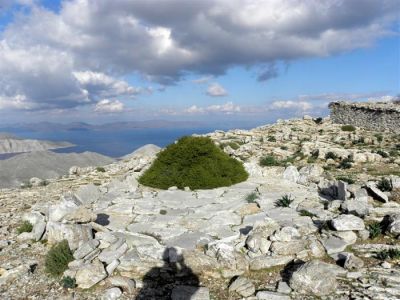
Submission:
[[[332,102],[329,108],[334,123],[400,133],[399,104]]]

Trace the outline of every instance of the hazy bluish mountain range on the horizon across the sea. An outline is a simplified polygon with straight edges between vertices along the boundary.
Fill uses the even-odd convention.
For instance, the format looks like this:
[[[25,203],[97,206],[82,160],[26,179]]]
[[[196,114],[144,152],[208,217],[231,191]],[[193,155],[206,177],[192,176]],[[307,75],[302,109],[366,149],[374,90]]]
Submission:
[[[165,120],[149,120],[149,121],[129,121],[114,122],[100,125],[88,124],[84,122],[73,122],[67,124],[40,122],[32,124],[11,124],[0,125],[0,131],[85,131],[85,130],[120,130],[134,128],[185,128],[185,127],[201,127],[201,122],[191,121],[165,121]]]

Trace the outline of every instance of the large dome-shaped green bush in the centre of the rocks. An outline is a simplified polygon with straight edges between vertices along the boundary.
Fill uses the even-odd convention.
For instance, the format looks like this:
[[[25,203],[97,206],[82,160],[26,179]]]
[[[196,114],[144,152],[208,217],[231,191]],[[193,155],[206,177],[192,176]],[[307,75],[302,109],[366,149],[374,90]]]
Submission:
[[[139,178],[150,187],[168,189],[212,189],[245,181],[243,165],[229,157],[206,137],[183,137],[158,154]]]

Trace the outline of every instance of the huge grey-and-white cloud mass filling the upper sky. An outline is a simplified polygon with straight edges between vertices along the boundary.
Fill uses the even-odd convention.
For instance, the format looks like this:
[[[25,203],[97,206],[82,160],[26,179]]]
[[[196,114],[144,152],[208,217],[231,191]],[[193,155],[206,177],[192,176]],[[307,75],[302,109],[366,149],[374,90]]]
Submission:
[[[397,11],[398,0],[165,0],[157,9],[148,0],[70,0],[59,12],[33,5],[1,33],[0,97],[19,96],[20,107],[74,107],[119,90],[135,94],[104,76],[174,84],[233,66],[270,66],[259,76],[267,80],[279,61],[370,46]],[[95,78],[82,83],[85,76]]]

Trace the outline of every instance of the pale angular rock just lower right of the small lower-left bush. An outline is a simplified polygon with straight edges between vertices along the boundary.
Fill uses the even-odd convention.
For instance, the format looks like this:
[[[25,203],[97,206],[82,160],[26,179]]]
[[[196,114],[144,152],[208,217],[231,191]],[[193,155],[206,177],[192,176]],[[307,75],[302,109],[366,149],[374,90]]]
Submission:
[[[107,277],[103,264],[94,260],[76,272],[75,280],[79,288],[89,289]]]

